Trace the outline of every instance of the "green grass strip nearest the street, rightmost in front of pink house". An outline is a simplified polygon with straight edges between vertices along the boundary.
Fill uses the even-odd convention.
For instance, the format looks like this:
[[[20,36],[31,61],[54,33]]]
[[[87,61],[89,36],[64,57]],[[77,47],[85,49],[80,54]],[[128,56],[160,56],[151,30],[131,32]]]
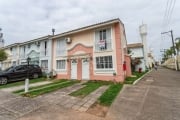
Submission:
[[[112,84],[98,99],[98,103],[105,106],[110,106],[119,91],[122,89],[123,84]]]

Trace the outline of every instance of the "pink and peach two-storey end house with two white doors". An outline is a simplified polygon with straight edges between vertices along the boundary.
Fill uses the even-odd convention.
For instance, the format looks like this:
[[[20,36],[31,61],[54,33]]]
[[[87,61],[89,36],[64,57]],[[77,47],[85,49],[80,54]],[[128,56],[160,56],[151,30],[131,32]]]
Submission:
[[[112,19],[54,35],[52,67],[57,78],[123,82],[131,75],[124,24]]]

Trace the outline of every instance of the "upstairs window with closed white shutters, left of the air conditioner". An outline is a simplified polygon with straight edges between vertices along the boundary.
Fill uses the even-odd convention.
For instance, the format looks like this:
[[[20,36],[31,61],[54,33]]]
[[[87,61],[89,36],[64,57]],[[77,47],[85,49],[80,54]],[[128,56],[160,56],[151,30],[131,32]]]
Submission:
[[[56,43],[56,55],[57,56],[64,56],[66,54],[66,40],[59,39]]]

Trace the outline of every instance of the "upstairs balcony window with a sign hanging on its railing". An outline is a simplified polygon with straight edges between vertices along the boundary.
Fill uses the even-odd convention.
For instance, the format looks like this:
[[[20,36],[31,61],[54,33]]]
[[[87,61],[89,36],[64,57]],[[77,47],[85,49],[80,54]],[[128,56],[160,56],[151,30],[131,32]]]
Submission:
[[[111,28],[97,30],[95,32],[95,51],[111,50]]]

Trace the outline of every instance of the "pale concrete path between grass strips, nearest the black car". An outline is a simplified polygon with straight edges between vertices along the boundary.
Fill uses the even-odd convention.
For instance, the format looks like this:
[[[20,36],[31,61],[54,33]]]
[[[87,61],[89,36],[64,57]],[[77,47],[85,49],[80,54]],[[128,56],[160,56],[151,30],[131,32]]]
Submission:
[[[52,82],[51,81],[43,81],[43,82],[31,83],[31,84],[29,84],[29,87],[37,87],[37,86],[46,85],[46,84],[50,84],[50,83],[52,83]],[[24,85],[19,85],[19,86],[9,87],[9,88],[2,88],[0,91],[13,92],[13,91],[22,90],[22,89],[24,89]]]

